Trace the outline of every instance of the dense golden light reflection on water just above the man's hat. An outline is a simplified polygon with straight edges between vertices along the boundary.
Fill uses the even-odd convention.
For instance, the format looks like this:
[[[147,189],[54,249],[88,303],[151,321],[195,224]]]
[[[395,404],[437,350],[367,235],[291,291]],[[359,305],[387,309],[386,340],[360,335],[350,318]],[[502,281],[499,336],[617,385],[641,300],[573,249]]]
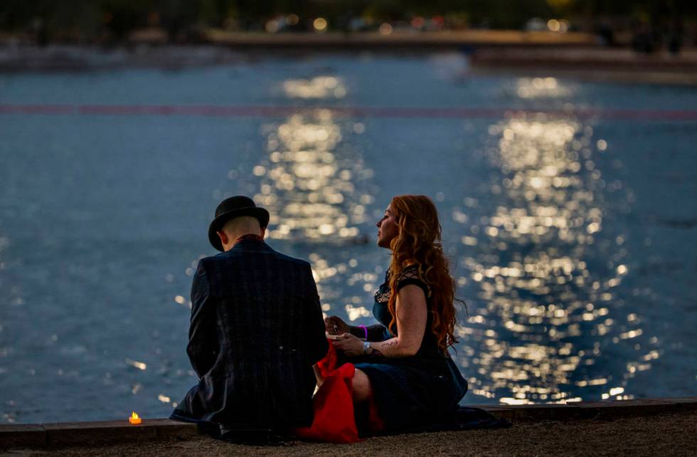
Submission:
[[[373,172],[350,148],[337,150],[341,128],[331,112],[294,115],[265,130],[269,155],[253,169],[260,177],[254,199],[270,209],[270,238],[356,238],[373,203],[356,187]]]

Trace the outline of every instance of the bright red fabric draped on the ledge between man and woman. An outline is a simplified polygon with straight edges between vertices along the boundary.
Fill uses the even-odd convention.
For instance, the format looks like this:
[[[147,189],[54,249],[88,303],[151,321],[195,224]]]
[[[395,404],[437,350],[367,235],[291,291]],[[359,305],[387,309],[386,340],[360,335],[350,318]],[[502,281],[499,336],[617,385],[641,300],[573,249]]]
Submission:
[[[317,362],[317,367],[324,383],[312,398],[314,420],[312,426],[294,429],[294,434],[301,439],[310,441],[326,441],[329,443],[356,443],[358,428],[353,415],[353,374],[356,367],[345,363],[336,368],[338,359],[336,349],[329,341],[329,350],[324,359]],[[383,420],[378,414],[378,408],[371,396],[369,404],[369,428],[373,433],[384,428]]]

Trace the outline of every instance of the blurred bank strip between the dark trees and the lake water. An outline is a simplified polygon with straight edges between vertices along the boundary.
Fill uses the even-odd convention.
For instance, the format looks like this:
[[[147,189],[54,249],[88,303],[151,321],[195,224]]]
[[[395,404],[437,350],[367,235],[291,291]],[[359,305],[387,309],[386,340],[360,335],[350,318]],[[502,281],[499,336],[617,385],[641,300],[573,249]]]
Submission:
[[[321,37],[319,37],[321,38]],[[380,40],[377,40],[380,41]],[[262,42],[247,46],[225,42],[169,46],[161,43],[133,43],[130,46],[33,45],[0,46],[0,74],[83,73],[130,68],[181,70],[211,65],[253,64],[269,58],[312,58],[314,56],[375,55],[420,56],[428,53],[461,53],[468,59],[463,74],[558,75],[610,83],[697,85],[697,49],[679,55],[666,52],[639,54],[627,48],[600,48],[556,43],[485,43],[464,46],[444,41],[442,46],[403,43],[382,46],[365,40],[361,46],[294,46]]]

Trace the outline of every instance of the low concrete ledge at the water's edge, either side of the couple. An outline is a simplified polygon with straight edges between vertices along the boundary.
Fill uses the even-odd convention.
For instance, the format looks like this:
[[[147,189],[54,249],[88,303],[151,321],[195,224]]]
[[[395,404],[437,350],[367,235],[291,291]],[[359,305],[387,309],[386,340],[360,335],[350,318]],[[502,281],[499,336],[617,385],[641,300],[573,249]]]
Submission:
[[[568,404],[471,405],[512,421],[612,419],[624,416],[697,410],[697,396],[619,401],[577,401]],[[45,448],[92,443],[142,442],[198,435],[194,424],[169,419],[144,419],[131,425],[122,421],[60,422],[55,424],[0,425],[0,448]]]

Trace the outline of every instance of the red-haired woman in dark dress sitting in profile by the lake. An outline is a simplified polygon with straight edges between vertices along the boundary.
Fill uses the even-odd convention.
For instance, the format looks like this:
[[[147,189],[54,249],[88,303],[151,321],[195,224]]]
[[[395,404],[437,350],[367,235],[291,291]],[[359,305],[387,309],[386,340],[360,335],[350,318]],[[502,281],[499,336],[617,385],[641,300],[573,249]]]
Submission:
[[[355,364],[357,410],[370,400],[385,431],[412,429],[442,419],[467,392],[448,353],[456,342],[454,281],[437,210],[427,196],[395,196],[377,226],[378,246],[392,251],[373,305],[380,323],[351,326],[331,316],[326,330],[341,335],[332,344]]]

